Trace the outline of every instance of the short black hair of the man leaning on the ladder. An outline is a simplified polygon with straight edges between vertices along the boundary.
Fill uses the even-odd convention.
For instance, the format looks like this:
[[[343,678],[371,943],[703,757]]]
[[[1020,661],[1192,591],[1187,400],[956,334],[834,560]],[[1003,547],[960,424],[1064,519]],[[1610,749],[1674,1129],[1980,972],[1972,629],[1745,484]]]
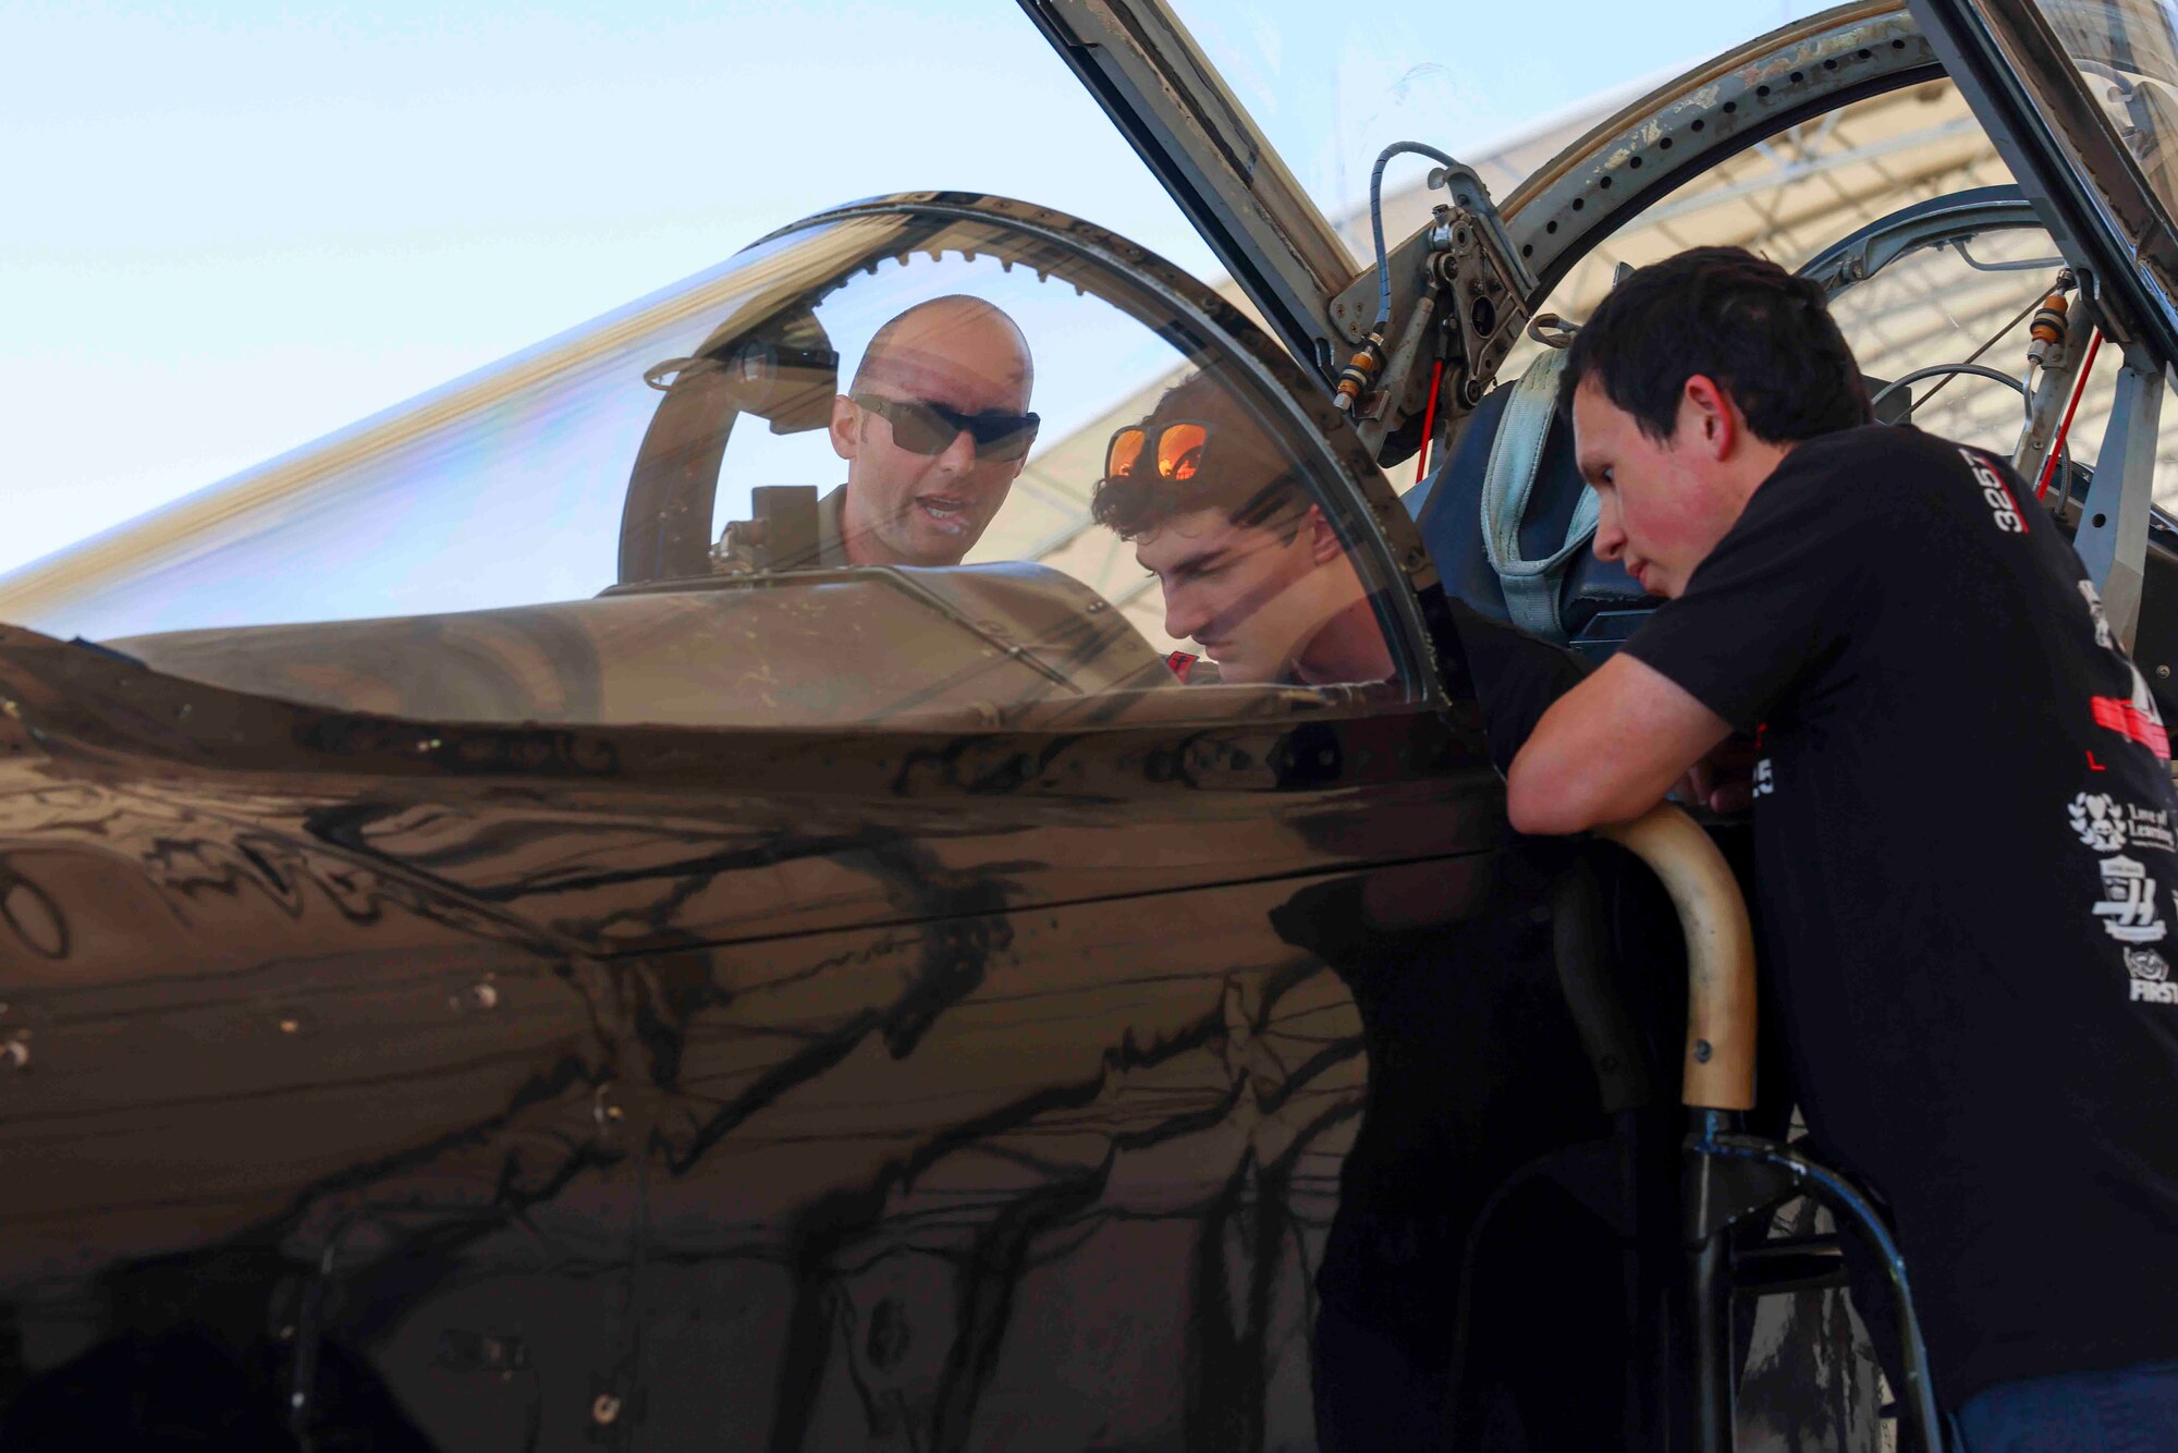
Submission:
[[[1662,442],[1679,427],[1679,394],[1697,373],[1732,394],[1771,444],[1873,418],[1821,283],[1736,246],[1697,246],[1612,288],[1573,335],[1557,401],[1570,410],[1581,379],[1594,377]]]

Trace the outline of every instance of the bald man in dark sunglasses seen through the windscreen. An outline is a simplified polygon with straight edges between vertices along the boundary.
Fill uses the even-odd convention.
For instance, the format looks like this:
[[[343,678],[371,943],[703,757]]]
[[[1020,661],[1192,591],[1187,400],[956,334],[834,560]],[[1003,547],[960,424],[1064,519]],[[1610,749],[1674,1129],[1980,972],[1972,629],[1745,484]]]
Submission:
[[[832,401],[847,484],[817,505],[823,564],[960,564],[1037,442],[1032,383],[1028,340],[982,298],[917,303],[878,329]]]

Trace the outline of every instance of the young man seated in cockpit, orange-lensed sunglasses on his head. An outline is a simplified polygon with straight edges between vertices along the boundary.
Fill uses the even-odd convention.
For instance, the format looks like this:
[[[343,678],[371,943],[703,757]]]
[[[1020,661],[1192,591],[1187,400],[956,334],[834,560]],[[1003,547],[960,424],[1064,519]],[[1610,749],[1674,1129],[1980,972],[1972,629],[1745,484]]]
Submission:
[[[1091,497],[1165,593],[1165,634],[1222,682],[1381,682],[1392,675],[1368,590],[1276,444],[1209,375],[1113,434]],[[1174,671],[1194,680],[1191,662]]]

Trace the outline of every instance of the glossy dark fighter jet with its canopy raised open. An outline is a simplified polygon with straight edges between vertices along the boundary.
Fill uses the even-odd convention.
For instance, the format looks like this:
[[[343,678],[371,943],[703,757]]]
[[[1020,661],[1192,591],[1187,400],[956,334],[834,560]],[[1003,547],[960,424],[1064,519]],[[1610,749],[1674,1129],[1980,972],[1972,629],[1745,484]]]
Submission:
[[[9,1449],[1313,1446],[1357,1296],[1455,1446],[1697,1446],[1677,924],[1492,699],[1653,601],[1518,379],[1742,209],[2161,721],[2178,35],[1847,4],[1333,218],[1183,2],[1021,2],[1228,285],[854,203],[0,579]],[[1827,1231],[1745,1446],[1880,1436]]]

